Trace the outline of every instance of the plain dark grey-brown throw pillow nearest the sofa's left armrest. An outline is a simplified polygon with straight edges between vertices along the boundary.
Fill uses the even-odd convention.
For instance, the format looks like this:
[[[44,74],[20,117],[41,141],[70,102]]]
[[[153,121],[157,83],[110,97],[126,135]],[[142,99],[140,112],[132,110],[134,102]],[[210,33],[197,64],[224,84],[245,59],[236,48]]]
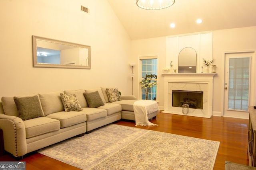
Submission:
[[[38,96],[32,97],[13,97],[20,119],[23,121],[36,117],[44,117]]]

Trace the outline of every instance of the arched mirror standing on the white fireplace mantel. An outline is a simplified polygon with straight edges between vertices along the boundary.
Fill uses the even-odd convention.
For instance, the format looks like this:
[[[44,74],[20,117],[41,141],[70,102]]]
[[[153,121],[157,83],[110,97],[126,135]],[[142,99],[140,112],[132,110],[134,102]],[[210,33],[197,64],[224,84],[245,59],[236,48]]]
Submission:
[[[196,73],[196,50],[191,47],[179,53],[178,73]]]

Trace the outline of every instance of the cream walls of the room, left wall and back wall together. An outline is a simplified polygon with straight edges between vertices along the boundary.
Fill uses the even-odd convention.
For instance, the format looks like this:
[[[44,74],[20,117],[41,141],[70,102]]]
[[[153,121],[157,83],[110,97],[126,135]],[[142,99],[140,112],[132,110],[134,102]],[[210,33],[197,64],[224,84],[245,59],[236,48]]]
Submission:
[[[80,11],[80,5],[90,14]],[[158,102],[164,107],[166,37],[131,41],[107,0],[1,0],[0,97],[66,89],[118,87],[139,96],[139,56],[158,55]],[[92,69],[36,68],[32,35],[91,46]],[[256,49],[256,27],[213,31],[214,114],[222,112],[224,51]]]

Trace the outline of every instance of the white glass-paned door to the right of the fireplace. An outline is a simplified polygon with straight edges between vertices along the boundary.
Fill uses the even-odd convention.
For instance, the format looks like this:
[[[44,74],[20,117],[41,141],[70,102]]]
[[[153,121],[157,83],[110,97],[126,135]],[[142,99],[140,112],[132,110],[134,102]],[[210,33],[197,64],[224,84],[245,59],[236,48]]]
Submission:
[[[224,116],[249,118],[252,56],[254,52],[225,54]]]

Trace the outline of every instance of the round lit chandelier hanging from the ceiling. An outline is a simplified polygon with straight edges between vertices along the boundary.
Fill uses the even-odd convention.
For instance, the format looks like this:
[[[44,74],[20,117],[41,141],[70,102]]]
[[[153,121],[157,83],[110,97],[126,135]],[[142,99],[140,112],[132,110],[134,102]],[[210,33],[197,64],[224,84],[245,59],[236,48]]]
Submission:
[[[137,6],[145,10],[161,10],[174,4],[175,0],[137,0]]]

